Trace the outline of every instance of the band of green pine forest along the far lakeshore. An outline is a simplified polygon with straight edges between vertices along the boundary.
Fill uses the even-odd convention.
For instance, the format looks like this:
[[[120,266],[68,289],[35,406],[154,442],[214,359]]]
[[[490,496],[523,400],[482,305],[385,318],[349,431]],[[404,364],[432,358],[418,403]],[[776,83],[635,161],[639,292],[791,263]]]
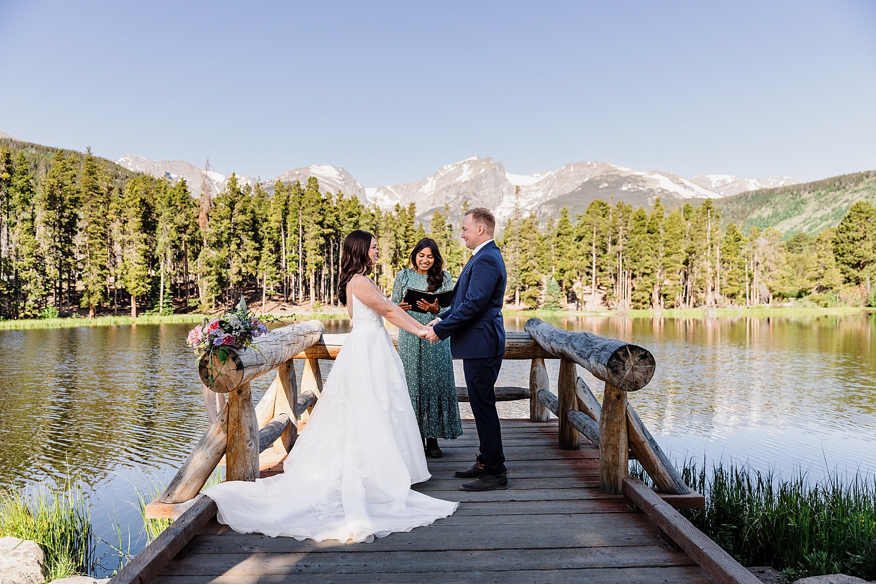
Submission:
[[[451,273],[469,253],[449,208],[424,225],[413,204],[366,207],[322,190],[314,177],[306,184],[277,181],[269,194],[232,175],[221,193],[195,199],[184,180],[120,171],[90,153],[11,145],[14,153],[0,145],[4,318],[212,310],[241,294],[334,305],[339,252],[353,229],[377,237],[375,275],[387,291],[422,236],[439,243]],[[868,193],[872,180],[861,175],[840,186],[851,197]],[[469,204],[477,201],[463,201],[463,208]],[[876,304],[870,202],[851,205],[836,229],[787,241],[777,229],[743,229],[733,215],[730,222],[722,215],[712,201],[667,212],[659,200],[646,209],[596,199],[575,215],[561,208],[548,222],[514,208],[498,241],[507,301],[547,309],[801,298],[822,306]]]

